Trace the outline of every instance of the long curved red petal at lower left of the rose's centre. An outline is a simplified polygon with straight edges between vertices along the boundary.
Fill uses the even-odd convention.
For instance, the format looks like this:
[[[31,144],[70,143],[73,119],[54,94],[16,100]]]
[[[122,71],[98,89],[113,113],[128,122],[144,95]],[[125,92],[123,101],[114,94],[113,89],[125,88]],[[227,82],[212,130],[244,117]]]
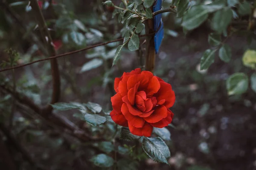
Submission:
[[[122,104],[121,111],[122,111],[122,114],[125,116],[125,119],[127,119],[128,122],[130,123],[130,125],[134,127],[143,127],[145,120],[139,116],[132,115],[129,112],[128,107],[125,103]]]

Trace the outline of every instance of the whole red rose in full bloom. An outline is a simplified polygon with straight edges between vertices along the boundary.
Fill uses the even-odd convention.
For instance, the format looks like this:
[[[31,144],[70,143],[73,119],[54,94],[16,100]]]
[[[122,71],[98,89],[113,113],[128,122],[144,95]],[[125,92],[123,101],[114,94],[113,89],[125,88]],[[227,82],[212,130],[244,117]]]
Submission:
[[[114,89],[110,116],[116,124],[129,127],[132,134],[149,137],[153,127],[163,128],[172,122],[172,86],[151,72],[137,68],[124,73],[115,79]]]

